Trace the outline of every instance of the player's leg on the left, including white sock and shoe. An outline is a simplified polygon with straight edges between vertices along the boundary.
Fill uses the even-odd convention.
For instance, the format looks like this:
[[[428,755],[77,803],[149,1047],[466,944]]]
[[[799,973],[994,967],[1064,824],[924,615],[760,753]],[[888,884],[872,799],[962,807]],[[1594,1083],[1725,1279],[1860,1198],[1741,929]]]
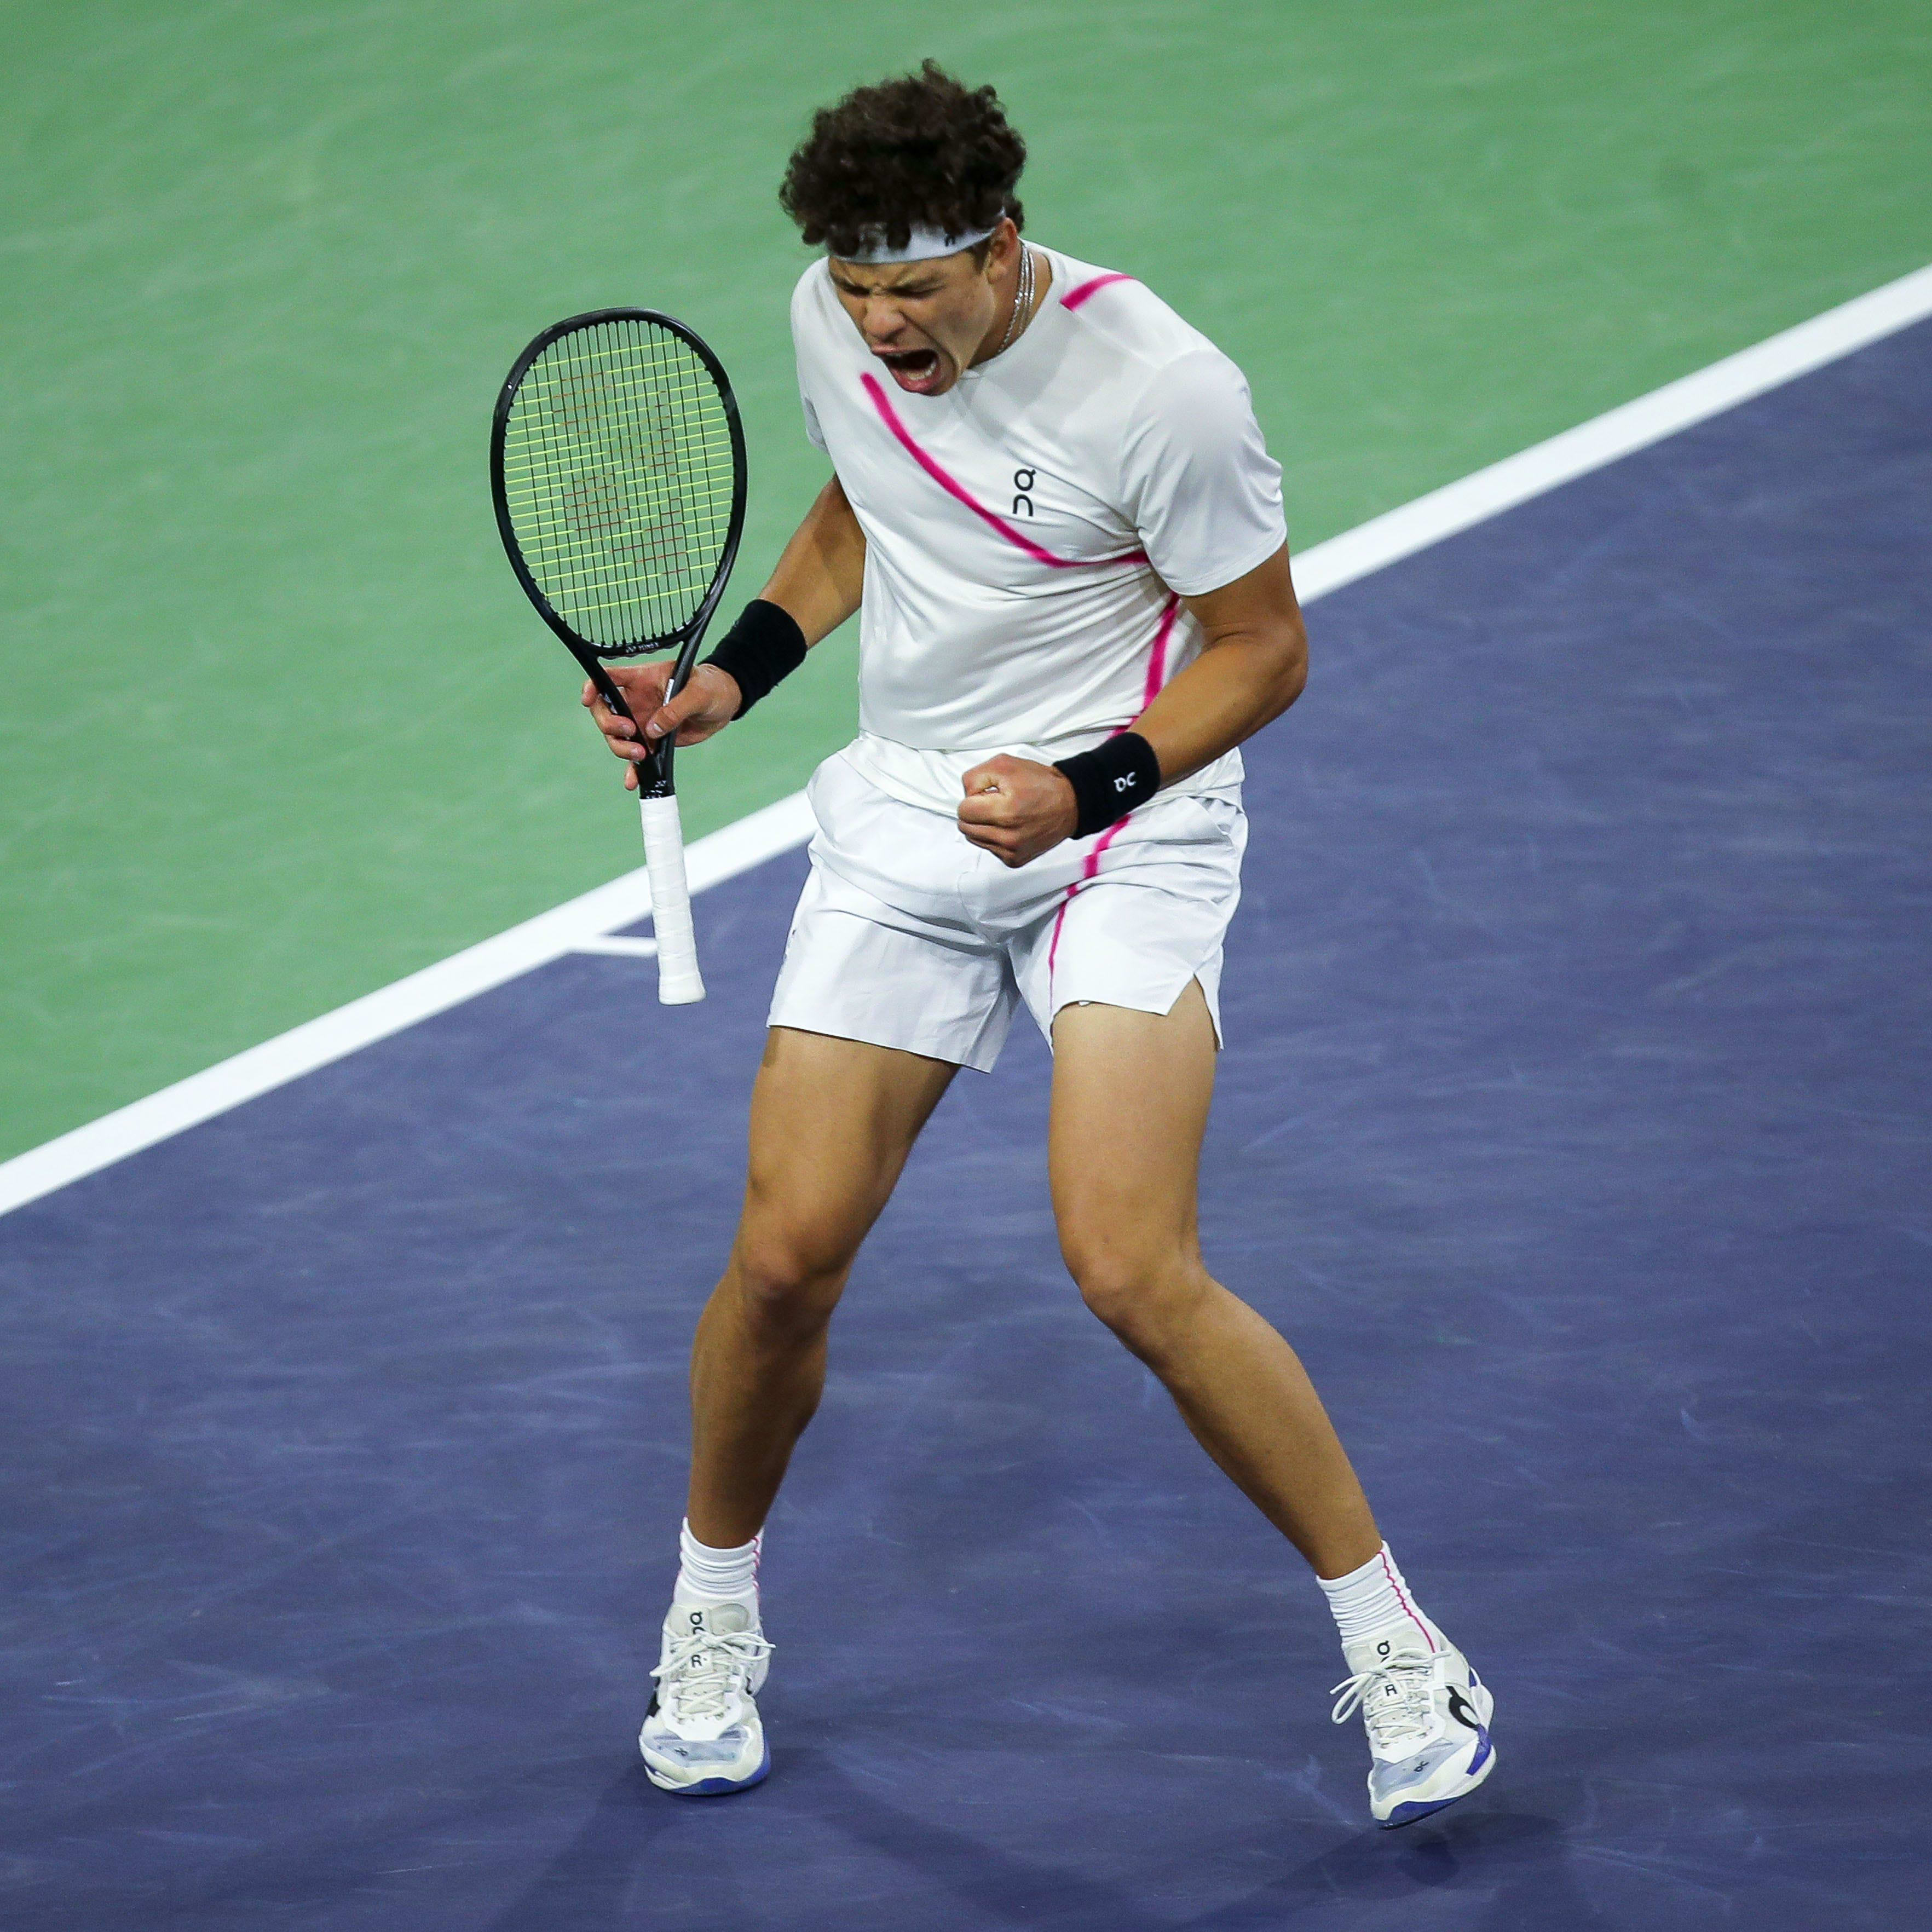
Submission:
[[[692,1488],[657,1692],[638,1745],[665,1791],[755,1785],[757,1538],[825,1385],[825,1331],[852,1258],[954,1068],[775,1026],[752,1090],[752,1159],[724,1277],[692,1349]]]

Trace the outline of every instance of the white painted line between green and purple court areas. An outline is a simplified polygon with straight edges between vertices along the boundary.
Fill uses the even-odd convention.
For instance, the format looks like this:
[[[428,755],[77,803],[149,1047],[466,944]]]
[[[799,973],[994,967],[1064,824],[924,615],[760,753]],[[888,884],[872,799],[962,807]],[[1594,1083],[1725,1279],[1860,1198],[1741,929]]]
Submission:
[[[1352,583],[1374,570],[1412,556],[1416,551],[1453,537],[1486,518],[1497,516],[1530,497],[1569,483],[1604,464],[1629,456],[1646,444],[1719,415],[1779,383],[1849,355],[1870,342],[1932,315],[1932,267],[1918,269],[1874,288],[1868,296],[1826,309],[1797,328],[1770,336],[1754,348],[1725,355],[1706,369],[1665,383],[1605,415],[1565,429],[1519,456],[1507,456],[1457,483],[1430,491],[1414,502],[1370,518],[1354,529],[1318,543],[1294,560],[1294,580],[1302,601]],[[750,871],[767,858],[790,852],[811,837],[806,794],[794,792],[763,811],[738,819],[686,854],[692,891],[701,893],[724,879]],[[21,1208],[54,1188],[97,1173],[170,1134],[240,1107],[272,1088],[284,1086],[317,1066],[327,1066],[357,1047],[444,1012],[506,980],[545,966],[566,952],[641,954],[651,941],[611,937],[612,927],[634,925],[649,916],[651,893],[643,867],[609,885],[512,925],[495,939],[468,947],[435,966],[410,974],[375,993],[325,1012],[259,1047],[209,1066],[149,1094],[129,1107],[77,1126],[58,1140],[0,1163],[0,1213]]]

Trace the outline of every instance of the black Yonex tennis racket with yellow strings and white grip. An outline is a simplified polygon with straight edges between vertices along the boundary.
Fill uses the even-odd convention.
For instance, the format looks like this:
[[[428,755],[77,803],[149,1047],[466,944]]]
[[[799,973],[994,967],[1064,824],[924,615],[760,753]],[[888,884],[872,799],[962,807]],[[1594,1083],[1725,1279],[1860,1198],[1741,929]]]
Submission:
[[[717,355],[655,309],[597,309],[545,328],[497,398],[491,489],[518,583],[618,715],[607,657],[697,661],[744,529],[744,429]],[[670,782],[670,738],[638,765],[657,925],[657,997],[705,997]]]

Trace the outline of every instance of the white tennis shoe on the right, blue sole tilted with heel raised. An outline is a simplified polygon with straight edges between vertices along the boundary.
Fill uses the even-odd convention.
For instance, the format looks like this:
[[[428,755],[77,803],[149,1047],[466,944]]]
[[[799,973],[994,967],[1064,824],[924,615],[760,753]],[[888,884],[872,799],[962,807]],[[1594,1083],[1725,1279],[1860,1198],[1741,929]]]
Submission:
[[[1428,1644],[1435,1650],[1430,1652]],[[1335,1690],[1335,1723],[1360,1710],[1368,1727],[1368,1808],[1376,1824],[1414,1824],[1453,1804],[1495,1770],[1495,1700],[1468,1658],[1435,1625],[1376,1631],[1343,1644],[1350,1677]]]

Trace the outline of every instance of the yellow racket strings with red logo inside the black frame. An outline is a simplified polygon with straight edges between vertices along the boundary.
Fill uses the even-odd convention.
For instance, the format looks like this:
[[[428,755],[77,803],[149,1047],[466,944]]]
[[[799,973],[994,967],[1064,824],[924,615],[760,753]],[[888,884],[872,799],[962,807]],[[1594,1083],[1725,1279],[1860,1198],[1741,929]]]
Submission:
[[[524,375],[502,483],[524,562],[564,622],[609,655],[670,643],[730,531],[724,398],[668,328],[576,328]]]

